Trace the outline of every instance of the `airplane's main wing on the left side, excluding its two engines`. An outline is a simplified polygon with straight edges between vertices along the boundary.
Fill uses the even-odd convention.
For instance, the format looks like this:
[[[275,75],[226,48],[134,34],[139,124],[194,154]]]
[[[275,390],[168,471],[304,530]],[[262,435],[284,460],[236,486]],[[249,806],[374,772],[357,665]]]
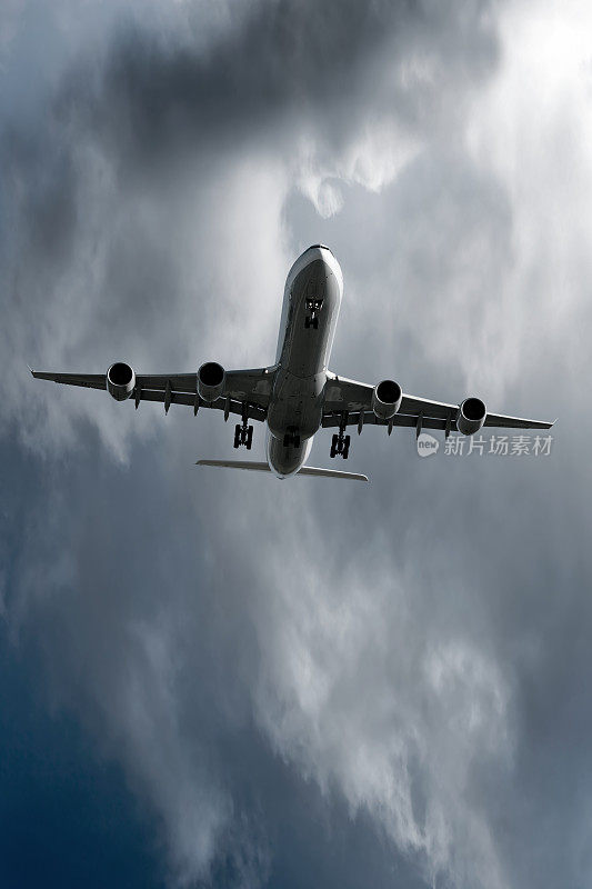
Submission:
[[[264,420],[273,382],[275,368],[255,368],[252,370],[228,370],[224,389],[214,401],[204,401],[198,393],[197,373],[157,373],[136,376],[136,387],[130,401],[138,408],[140,401],[160,401],[165,411],[171,404],[187,404],[197,413],[200,407],[223,410],[224,416],[245,413],[249,419]],[[48,373],[31,370],[39,380],[67,386],[82,386],[87,389],[107,389],[104,373]]]

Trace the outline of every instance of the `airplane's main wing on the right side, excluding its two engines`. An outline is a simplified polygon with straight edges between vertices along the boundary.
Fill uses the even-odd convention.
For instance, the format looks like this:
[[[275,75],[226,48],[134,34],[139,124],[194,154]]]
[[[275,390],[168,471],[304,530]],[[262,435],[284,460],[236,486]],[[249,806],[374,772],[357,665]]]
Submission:
[[[446,434],[455,432],[459,404],[418,398],[403,392],[401,407],[390,420],[378,418],[372,410],[373,386],[330,374],[325,387],[323,427],[358,426],[407,426],[421,429],[442,429]],[[554,421],[553,421],[554,422]],[[509,417],[488,411],[483,426],[501,429],[550,429],[553,422],[529,420],[525,417]]]

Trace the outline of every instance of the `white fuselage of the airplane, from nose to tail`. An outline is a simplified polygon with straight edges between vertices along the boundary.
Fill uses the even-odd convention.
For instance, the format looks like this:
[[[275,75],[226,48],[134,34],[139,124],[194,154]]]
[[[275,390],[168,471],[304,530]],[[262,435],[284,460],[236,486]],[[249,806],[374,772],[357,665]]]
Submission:
[[[304,465],[321,426],[327,369],[343,296],[343,276],[328,247],[310,247],[288,274],[277,371],[268,409],[267,457],[279,478]],[[318,324],[307,323],[311,303]]]

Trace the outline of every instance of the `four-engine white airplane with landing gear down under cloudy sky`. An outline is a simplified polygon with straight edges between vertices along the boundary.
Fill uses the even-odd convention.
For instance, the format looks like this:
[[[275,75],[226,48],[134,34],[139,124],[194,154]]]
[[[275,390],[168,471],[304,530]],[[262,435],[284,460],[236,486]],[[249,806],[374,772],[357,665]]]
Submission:
[[[550,429],[553,423],[490,413],[473,396],[459,404],[407,394],[394,380],[377,384],[357,382],[328,369],[343,296],[343,274],[325,244],[309,247],[293,263],[285,281],[275,363],[250,370],[224,370],[215,361],[201,364],[198,372],[136,374],[130,364],[117,361],[107,373],[31,373],[57,383],[107,389],[116,401],[187,404],[197,416],[201,408],[223,411],[224,420],[237,414],[234,448],[251,450],[253,426],[267,423],[267,461],[198,460],[199,466],[227,467],[271,472],[279,479],[321,476],[368,481],[358,472],[321,469],[305,465],[314,434],[332,428],[330,457],[347,460],[349,427],[383,426],[443,430],[473,436],[483,427],[504,429]]]

